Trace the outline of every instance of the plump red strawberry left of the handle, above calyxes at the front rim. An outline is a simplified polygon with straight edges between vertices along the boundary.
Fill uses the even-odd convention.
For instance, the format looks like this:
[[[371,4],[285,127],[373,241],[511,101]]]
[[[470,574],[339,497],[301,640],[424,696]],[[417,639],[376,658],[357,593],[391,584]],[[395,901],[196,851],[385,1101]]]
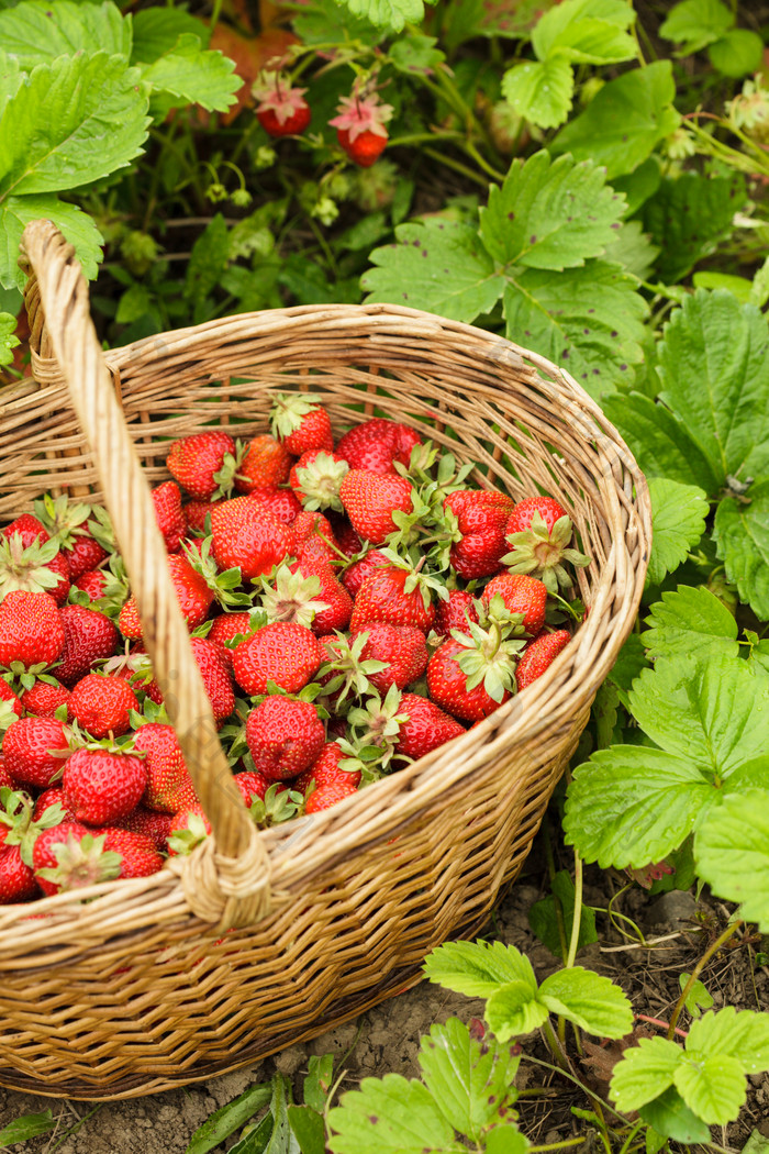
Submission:
[[[76,749],[65,765],[63,803],[76,822],[105,825],[130,814],[145,786],[146,767],[140,757],[110,749]]]

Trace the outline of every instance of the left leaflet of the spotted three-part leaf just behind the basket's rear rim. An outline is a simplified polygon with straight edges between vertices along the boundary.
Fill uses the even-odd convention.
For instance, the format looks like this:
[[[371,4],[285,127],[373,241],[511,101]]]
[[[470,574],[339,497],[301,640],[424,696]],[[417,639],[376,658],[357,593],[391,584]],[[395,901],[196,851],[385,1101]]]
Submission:
[[[370,269],[361,278],[369,301],[392,301],[453,321],[473,321],[499,299],[503,277],[481,243],[477,230],[452,220],[430,218],[402,224],[397,245],[375,248]]]

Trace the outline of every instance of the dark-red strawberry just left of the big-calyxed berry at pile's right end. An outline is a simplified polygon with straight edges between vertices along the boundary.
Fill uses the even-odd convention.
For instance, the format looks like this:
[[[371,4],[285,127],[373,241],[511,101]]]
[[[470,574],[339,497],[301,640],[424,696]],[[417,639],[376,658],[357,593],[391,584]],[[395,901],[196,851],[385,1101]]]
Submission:
[[[496,489],[457,489],[444,500],[444,510],[457,518],[452,568],[473,580],[496,574],[507,548],[505,524],[515,502]]]

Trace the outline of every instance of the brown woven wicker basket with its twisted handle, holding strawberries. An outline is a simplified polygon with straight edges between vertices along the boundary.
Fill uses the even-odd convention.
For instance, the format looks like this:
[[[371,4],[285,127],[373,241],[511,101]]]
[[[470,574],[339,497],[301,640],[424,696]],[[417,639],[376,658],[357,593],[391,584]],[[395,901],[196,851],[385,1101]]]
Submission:
[[[566,373],[470,325],[390,305],[308,306],[103,354],[73,249],[47,222],[28,226],[24,247],[35,382],[0,396],[0,514],[45,489],[111,509],[214,838],[153,877],[1,909],[0,1084],[130,1097],[318,1034],[413,984],[432,946],[477,934],[633,624],[648,494]],[[579,575],[589,613],[548,673],[481,726],[324,814],[257,834],[216,736],[146,482],[167,475],[164,440],[211,424],[263,432],[271,394],[308,388],[337,432],[395,418],[474,462],[481,486],[558,494],[593,557]]]

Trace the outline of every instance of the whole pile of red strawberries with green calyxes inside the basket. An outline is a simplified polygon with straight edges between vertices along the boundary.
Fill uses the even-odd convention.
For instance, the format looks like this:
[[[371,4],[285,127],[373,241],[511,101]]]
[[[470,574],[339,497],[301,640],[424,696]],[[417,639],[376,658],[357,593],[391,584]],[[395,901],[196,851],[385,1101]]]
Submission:
[[[326,809],[465,733],[579,620],[551,497],[472,488],[410,427],[334,445],[309,394],[272,435],[169,445],[168,570],[256,823]],[[0,534],[0,902],[143,877],[210,833],[104,509],[46,496]]]

